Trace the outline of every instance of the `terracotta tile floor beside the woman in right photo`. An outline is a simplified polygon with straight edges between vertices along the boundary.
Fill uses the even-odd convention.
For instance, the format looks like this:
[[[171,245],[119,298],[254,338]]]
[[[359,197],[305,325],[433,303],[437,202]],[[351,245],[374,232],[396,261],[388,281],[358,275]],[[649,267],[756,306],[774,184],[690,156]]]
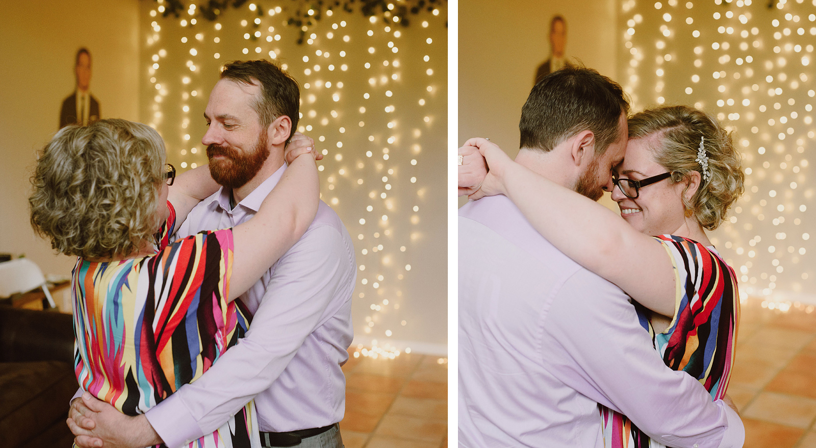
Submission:
[[[816,309],[747,299],[728,394],[745,448],[816,448]]]

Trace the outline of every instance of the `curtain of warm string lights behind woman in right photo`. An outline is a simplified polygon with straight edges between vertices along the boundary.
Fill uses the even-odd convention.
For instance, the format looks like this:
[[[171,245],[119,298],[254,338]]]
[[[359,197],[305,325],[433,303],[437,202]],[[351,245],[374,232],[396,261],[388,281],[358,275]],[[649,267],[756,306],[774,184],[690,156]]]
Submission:
[[[768,303],[785,297],[779,300],[787,305],[776,309],[816,303],[808,292],[814,289],[814,183],[807,180],[816,88],[813,5],[626,0],[621,16],[621,79],[633,109],[694,104],[734,131],[746,193],[712,242],[736,270],[743,297]]]

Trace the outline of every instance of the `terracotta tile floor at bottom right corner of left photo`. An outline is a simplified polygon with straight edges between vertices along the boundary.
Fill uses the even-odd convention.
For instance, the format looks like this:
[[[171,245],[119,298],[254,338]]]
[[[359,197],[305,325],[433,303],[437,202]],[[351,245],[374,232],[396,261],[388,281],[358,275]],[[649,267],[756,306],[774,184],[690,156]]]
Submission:
[[[448,365],[439,359],[352,353],[343,366],[346,415],[340,430],[346,448],[446,448]]]

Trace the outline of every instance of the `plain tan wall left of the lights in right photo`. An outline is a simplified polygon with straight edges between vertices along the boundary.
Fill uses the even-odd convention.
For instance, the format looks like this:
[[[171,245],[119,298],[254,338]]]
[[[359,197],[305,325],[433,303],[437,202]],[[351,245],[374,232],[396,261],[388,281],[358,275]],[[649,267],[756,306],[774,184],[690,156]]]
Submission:
[[[549,24],[556,14],[567,22],[566,55],[616,78],[614,0],[460,2],[459,144],[490,137],[515,157],[521,106],[535,70],[549,57]]]

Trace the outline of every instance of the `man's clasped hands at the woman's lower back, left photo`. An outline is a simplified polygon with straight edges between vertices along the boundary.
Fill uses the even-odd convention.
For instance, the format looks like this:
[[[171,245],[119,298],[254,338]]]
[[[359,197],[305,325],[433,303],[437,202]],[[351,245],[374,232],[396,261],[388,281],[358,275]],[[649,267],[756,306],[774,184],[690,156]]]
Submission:
[[[140,448],[162,443],[147,417],[131,417],[90,393],[71,401],[68,427],[80,448]]]

